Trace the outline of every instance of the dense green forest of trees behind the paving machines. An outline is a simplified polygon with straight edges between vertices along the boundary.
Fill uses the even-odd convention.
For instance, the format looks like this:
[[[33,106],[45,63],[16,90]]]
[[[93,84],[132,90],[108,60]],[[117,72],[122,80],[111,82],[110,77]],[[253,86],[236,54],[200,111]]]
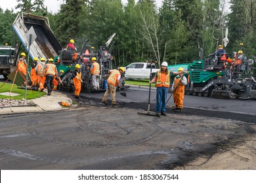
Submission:
[[[224,49],[228,56],[234,50],[256,55],[254,0],[230,0],[228,5],[227,0],[163,0],[159,8],[154,0],[128,0],[126,5],[121,0],[66,0],[54,14],[44,0],[16,1],[19,12],[46,14],[63,47],[74,39],[79,49],[89,39],[89,44],[98,48],[116,33],[112,55],[117,65],[149,59],[190,63],[200,58],[200,50],[205,58],[218,44],[224,44],[226,27],[229,43]],[[0,5],[1,45],[19,42],[12,30],[19,12],[4,11]]]

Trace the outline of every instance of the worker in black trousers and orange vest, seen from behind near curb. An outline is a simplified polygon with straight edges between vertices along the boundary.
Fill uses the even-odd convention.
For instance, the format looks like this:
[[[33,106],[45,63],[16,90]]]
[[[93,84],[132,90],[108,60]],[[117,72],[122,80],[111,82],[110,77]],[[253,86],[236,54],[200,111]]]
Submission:
[[[49,63],[45,64],[45,68],[43,69],[43,75],[46,76],[46,84],[47,84],[47,95],[51,95],[53,92],[53,79],[54,77],[58,78],[58,71],[56,69],[56,65],[53,64],[53,59],[49,59]]]

